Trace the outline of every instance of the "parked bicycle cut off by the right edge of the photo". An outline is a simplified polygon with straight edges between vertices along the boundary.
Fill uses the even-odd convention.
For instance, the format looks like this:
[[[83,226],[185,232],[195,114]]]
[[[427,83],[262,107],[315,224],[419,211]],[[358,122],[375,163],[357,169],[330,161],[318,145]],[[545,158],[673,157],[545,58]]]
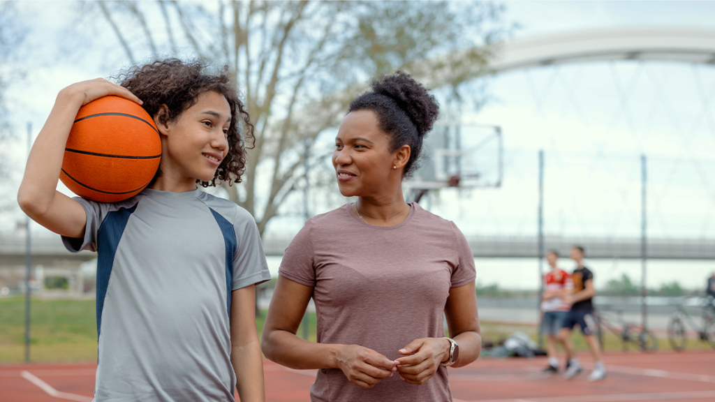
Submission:
[[[676,311],[668,323],[668,340],[673,350],[685,350],[688,342],[686,326],[698,334],[699,340],[704,340],[715,348],[715,300],[712,297],[706,298],[701,310],[702,325],[698,325],[685,310],[683,303],[676,305]]]

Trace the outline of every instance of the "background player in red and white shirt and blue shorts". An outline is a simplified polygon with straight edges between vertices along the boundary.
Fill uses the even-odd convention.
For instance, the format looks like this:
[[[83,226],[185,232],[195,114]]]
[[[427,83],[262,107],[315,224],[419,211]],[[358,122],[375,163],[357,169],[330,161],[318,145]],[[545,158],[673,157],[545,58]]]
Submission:
[[[544,371],[549,373],[558,372],[558,359],[556,359],[556,340],[558,340],[558,330],[561,329],[561,322],[566,317],[571,304],[564,300],[564,297],[573,291],[571,275],[565,270],[558,268],[558,253],[555,250],[548,250],[546,261],[551,266],[551,271],[543,275],[544,293],[541,297],[541,333],[546,334],[546,354],[548,356],[548,367]]]

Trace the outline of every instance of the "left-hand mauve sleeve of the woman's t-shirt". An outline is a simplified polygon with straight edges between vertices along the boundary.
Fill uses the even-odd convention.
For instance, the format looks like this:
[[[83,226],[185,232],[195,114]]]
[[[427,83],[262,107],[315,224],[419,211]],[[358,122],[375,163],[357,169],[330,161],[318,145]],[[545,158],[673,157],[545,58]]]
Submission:
[[[311,220],[298,232],[285,249],[278,275],[301,285],[315,287],[315,253],[310,238]]]

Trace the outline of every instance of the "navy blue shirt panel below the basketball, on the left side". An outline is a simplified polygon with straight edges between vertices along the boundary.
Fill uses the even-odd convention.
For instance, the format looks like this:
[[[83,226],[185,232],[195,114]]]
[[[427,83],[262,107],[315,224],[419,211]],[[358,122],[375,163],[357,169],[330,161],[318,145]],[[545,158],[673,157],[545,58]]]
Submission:
[[[107,295],[109,276],[112,275],[114,254],[117,253],[117,245],[122,239],[124,227],[127,227],[129,216],[136,209],[137,204],[134,204],[131,208],[122,207],[114,212],[109,212],[99,227],[97,234],[97,338],[99,338],[99,330],[102,328],[104,296]]]

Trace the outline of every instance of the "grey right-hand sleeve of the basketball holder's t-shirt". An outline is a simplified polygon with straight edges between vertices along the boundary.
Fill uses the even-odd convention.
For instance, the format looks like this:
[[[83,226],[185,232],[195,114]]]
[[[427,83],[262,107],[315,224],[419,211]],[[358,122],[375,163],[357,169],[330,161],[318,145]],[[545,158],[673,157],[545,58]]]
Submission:
[[[233,227],[236,231],[236,253],[233,256],[232,290],[259,285],[270,280],[261,236],[256,221],[248,211],[239,208]]]

